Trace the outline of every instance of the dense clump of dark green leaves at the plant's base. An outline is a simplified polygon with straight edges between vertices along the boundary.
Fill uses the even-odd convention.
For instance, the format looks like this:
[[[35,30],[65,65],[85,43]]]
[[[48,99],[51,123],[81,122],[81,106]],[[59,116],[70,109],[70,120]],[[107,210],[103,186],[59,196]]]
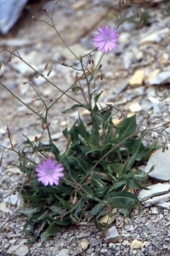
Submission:
[[[127,216],[135,204],[140,209],[138,197],[127,189],[145,189],[141,182],[147,173],[138,172],[136,167],[155,147],[144,147],[136,131],[135,115],[115,126],[111,122],[111,109],[99,112],[98,99],[99,95],[94,106],[96,116],[101,115],[97,123],[105,128],[105,137],[98,135],[99,146],[94,141],[95,128],[87,131],[80,117],[70,131],[63,131],[66,139],[70,137],[66,154],[59,155],[54,143],[31,145],[34,154],[53,152],[65,166],[65,177],[59,186],[44,187],[34,176],[31,183],[18,188],[24,199],[20,212],[29,218],[24,231],[30,236],[30,243],[38,237],[46,241],[49,236],[64,232],[67,225],[79,224],[85,213],[91,214],[88,221],[102,231],[99,218],[111,214],[111,209],[116,208]],[[34,168],[34,165],[27,169],[20,166],[28,177]]]

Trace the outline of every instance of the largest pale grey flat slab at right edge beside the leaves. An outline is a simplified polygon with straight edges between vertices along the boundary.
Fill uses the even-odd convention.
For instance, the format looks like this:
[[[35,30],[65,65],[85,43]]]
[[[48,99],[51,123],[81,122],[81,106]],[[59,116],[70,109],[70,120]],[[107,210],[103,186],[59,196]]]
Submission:
[[[156,178],[159,181],[169,181],[170,150],[165,150],[165,152],[162,153],[162,149],[158,149],[156,152],[151,154],[150,160],[148,161],[144,172],[149,172],[152,166],[154,166],[154,170],[149,173],[150,177]]]

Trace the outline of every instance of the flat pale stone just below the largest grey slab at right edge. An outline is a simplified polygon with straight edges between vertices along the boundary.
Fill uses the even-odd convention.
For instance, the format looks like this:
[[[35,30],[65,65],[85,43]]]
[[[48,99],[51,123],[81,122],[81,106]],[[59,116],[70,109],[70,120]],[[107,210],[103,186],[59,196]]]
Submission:
[[[139,201],[147,200],[148,198],[155,195],[162,195],[167,193],[167,191],[170,190],[170,184],[157,183],[155,185],[148,186],[147,189],[150,190],[141,190],[139,192]]]

